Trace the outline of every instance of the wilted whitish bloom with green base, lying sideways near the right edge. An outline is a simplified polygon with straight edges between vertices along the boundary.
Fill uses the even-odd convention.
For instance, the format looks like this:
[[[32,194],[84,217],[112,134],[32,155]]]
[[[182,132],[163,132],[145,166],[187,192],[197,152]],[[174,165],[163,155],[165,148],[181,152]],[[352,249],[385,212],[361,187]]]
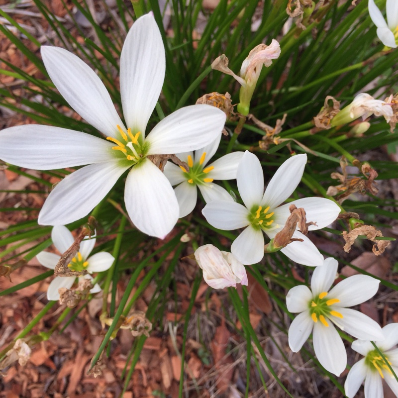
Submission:
[[[361,93],[333,117],[330,125],[335,127],[351,123],[353,120],[358,119],[358,117],[362,117],[362,120],[365,120],[372,114],[375,116],[384,116],[388,123],[394,116],[394,111],[390,103],[382,100],[375,100],[369,94]]]

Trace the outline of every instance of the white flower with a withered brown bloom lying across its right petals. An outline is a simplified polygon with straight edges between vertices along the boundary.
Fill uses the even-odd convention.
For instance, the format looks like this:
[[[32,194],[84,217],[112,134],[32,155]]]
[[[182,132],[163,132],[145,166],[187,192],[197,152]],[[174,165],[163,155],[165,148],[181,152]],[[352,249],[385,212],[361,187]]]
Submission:
[[[279,206],[298,186],[306,161],[306,155],[289,158],[277,170],[264,192],[260,161],[246,151],[239,163],[236,178],[244,205],[234,201],[215,200],[204,206],[204,217],[216,228],[232,230],[247,227],[231,246],[232,254],[243,264],[255,264],[263,258],[263,232],[269,238],[274,238],[284,227],[290,215],[291,204],[303,207],[307,221],[316,222],[316,225],[308,227],[310,230],[323,228],[336,219],[340,212],[339,206],[325,198],[298,199]],[[283,253],[299,264],[323,264],[323,256],[305,235],[296,231],[293,238],[301,238],[303,242],[288,244],[281,249]]]

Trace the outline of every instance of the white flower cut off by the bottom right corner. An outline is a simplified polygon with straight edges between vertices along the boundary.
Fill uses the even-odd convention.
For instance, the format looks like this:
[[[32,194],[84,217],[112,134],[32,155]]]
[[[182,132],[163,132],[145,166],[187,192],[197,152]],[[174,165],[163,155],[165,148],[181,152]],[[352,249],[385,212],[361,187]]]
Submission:
[[[390,323],[382,329],[384,340],[375,341],[394,373],[398,375],[398,323]],[[370,341],[355,340],[352,349],[365,358],[358,361],[349,371],[344,384],[345,394],[353,398],[365,380],[365,398],[383,398],[382,379],[386,381],[396,397],[398,382],[391,369]]]

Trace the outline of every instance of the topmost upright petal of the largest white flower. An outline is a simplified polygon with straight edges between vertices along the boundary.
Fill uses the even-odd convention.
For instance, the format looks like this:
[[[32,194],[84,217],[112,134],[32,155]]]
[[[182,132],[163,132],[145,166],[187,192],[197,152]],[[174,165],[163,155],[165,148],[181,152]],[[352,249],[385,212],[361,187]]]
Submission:
[[[145,134],[165,79],[166,56],[152,13],[138,18],[120,54],[120,96],[124,119],[133,132]]]

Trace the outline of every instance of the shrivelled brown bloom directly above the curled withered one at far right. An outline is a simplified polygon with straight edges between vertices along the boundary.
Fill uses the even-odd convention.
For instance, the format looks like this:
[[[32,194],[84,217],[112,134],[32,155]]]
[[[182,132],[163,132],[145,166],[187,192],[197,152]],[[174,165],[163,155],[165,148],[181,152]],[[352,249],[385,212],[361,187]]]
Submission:
[[[376,195],[379,192],[375,182],[378,174],[376,170],[372,169],[369,164],[363,164],[361,166],[362,174],[366,177],[366,180],[362,177],[348,178],[346,171],[347,165],[348,162],[343,156],[340,160],[340,166],[343,174],[332,173],[330,175],[334,180],[340,180],[341,184],[337,185],[336,187],[330,186],[327,189],[326,195],[334,196],[337,202],[341,204],[345,199],[355,192],[359,192],[361,195],[365,195],[367,192],[372,195]],[[354,161],[353,165],[359,168],[360,162]]]

